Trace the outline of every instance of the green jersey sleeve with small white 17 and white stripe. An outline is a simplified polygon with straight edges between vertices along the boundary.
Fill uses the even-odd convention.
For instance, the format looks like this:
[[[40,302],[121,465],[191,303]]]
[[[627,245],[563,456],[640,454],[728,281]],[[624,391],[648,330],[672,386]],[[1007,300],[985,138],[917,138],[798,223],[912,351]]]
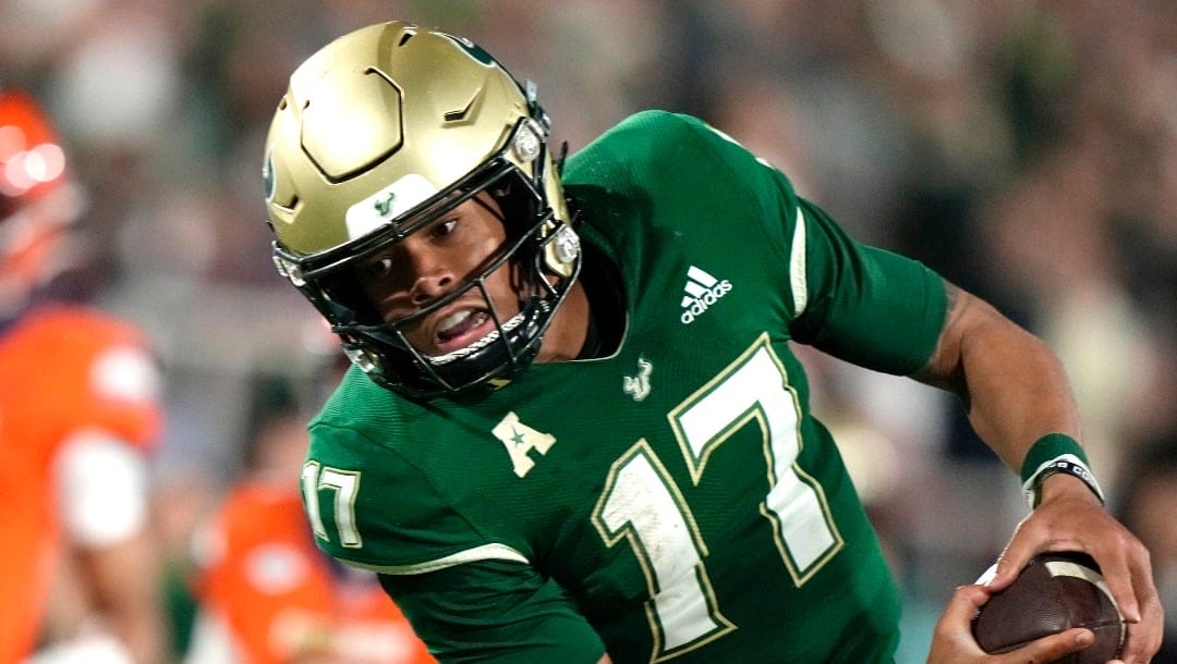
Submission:
[[[304,505],[319,546],[380,574],[441,662],[597,662],[600,638],[524,548],[485,534],[394,456],[354,429],[312,425]]]

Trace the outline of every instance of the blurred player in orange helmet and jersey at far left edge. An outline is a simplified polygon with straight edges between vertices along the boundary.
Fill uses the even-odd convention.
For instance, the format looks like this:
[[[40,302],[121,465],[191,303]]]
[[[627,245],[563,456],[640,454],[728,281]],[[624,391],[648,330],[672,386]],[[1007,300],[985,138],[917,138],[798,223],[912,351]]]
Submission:
[[[146,504],[159,374],[134,326],[49,295],[80,200],[42,109],[0,88],[0,664],[41,643],[66,557],[81,581],[69,591],[98,609],[109,639],[53,660],[161,659]]]

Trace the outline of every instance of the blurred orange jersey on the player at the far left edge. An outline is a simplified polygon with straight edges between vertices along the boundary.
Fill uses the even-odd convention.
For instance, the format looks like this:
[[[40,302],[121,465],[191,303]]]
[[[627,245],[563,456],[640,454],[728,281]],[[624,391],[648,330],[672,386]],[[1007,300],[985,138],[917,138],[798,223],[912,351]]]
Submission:
[[[32,649],[59,546],[54,462],[80,431],[148,448],[162,424],[141,387],[139,330],[97,311],[54,307],[0,333],[0,664]]]

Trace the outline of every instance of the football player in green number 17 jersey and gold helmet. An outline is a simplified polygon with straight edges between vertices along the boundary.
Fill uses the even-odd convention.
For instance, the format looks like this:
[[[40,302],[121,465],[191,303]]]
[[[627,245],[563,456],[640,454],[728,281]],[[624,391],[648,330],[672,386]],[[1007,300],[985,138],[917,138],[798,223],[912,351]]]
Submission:
[[[274,260],[354,363],[306,511],[440,660],[890,660],[899,592],[790,341],[955,391],[1022,472],[1035,509],[973,592],[1085,550],[1126,658],[1156,651],[1148,554],[1043,343],[700,120],[639,113],[566,161],[548,130],[484,49],[390,22],[293,73],[265,148]],[[969,601],[938,660],[984,660]]]

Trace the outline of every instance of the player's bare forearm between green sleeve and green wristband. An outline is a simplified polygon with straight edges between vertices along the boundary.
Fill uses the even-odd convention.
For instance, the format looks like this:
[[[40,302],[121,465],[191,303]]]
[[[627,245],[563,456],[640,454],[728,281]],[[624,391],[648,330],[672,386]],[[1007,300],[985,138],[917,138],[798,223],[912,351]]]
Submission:
[[[1013,470],[1039,437],[1079,438],[1066,373],[1045,343],[992,306],[952,289],[940,343],[919,380],[956,393],[973,429]]]

